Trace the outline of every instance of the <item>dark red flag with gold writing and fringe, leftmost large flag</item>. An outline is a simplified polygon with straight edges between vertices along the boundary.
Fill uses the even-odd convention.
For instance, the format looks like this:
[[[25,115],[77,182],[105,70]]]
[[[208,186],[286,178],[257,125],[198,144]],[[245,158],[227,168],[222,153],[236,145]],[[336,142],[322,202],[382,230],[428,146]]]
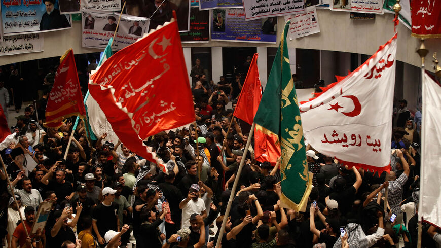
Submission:
[[[62,120],[70,116],[85,116],[86,110],[78,81],[77,65],[72,49],[60,59],[60,65],[55,73],[54,86],[49,94],[46,105],[45,127],[58,128]]]

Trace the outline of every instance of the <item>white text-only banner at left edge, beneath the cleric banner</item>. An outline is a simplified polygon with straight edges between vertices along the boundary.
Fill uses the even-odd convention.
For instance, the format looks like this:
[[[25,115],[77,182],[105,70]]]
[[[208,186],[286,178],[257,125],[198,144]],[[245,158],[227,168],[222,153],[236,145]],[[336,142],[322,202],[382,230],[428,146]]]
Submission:
[[[0,41],[0,56],[43,52],[43,36],[38,33],[4,36]]]

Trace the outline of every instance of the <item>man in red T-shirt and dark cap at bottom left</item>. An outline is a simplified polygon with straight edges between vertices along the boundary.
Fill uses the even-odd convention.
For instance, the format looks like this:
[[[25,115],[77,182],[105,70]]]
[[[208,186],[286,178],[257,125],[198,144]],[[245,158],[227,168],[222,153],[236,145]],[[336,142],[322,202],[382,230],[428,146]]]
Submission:
[[[35,219],[35,208],[33,206],[27,206],[24,209],[24,225],[26,226],[27,233],[31,233],[31,228]],[[39,228],[40,231],[40,228]],[[42,242],[43,245],[46,244],[46,237],[45,237],[45,231],[43,230],[41,232],[41,235],[38,235],[40,232],[37,231],[37,234],[31,234],[29,237],[31,239],[35,238],[37,242]],[[25,247],[25,244],[27,241],[27,235],[23,227],[23,223],[20,223],[14,230],[14,234],[12,234],[12,241],[11,241],[11,247],[17,248]]]

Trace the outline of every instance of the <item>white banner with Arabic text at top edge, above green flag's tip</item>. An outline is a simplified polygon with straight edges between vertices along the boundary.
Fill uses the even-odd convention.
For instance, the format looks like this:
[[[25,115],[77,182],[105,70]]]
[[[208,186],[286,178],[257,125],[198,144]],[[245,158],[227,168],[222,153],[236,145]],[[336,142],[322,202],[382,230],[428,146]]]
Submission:
[[[243,0],[245,19],[254,20],[264,17],[281,16],[304,12],[303,0]]]

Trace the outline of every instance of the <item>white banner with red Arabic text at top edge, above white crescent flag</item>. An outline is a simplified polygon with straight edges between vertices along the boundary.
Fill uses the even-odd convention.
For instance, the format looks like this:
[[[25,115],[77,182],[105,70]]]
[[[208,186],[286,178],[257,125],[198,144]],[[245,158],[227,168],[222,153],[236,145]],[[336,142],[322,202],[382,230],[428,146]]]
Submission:
[[[383,14],[384,12],[383,0],[331,0],[329,9],[374,14]]]

